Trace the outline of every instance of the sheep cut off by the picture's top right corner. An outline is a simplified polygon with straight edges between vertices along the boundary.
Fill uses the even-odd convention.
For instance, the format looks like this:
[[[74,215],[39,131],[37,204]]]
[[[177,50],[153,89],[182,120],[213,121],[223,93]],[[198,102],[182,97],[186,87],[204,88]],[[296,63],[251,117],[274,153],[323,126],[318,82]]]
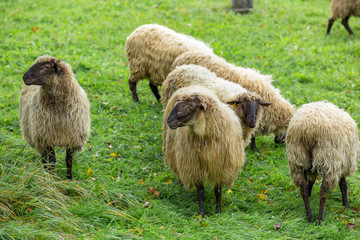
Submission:
[[[330,34],[331,27],[335,20],[342,18],[342,25],[344,25],[350,35],[354,35],[348,23],[350,16],[360,16],[360,0],[332,0],[331,17],[326,34]]]

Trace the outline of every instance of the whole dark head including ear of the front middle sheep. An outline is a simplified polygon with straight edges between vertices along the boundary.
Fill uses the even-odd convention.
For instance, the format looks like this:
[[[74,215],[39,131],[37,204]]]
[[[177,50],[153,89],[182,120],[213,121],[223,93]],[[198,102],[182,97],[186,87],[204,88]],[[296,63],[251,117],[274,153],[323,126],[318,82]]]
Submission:
[[[167,125],[171,129],[189,126],[201,111],[206,111],[207,103],[200,96],[191,96],[186,99],[178,100],[171,111]]]

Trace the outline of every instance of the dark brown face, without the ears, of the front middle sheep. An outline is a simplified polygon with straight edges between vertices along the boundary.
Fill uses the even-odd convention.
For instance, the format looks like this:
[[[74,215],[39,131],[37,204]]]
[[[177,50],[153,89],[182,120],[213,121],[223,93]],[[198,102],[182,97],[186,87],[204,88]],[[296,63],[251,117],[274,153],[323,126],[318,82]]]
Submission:
[[[167,125],[171,129],[185,126],[194,118],[197,109],[198,104],[195,102],[179,102],[171,111]]]

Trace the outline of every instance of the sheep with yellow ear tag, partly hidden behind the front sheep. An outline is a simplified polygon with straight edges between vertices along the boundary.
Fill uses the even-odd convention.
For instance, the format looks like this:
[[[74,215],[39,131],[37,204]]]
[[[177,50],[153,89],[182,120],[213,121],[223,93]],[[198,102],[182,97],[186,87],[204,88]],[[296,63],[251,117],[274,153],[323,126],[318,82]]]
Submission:
[[[162,87],[161,103],[165,107],[177,89],[194,84],[214,91],[220,101],[234,107],[236,115],[240,118],[246,147],[261,119],[262,106],[269,106],[271,103],[262,101],[256,93],[246,90],[239,84],[218,78],[215,73],[198,65],[179,66],[167,76]]]

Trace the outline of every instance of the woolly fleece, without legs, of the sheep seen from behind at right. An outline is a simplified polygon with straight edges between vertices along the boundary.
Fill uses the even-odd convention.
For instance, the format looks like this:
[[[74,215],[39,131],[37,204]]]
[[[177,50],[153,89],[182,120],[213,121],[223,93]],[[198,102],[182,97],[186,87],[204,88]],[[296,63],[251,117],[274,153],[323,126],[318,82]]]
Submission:
[[[290,169],[301,166],[320,176],[328,174],[331,188],[339,177],[356,171],[360,147],[356,122],[332,103],[300,107],[290,121],[286,145]]]

